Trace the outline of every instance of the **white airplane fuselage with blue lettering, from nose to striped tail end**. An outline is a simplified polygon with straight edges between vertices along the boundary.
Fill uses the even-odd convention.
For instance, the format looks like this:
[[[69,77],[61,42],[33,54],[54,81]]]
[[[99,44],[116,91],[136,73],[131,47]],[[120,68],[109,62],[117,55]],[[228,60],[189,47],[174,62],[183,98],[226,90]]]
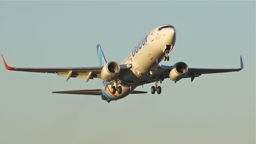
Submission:
[[[159,28],[162,29],[159,30]],[[116,84],[104,82],[102,84],[102,99],[118,100],[124,98],[137,86],[146,84],[156,72],[166,50],[168,52],[172,50],[175,38],[175,28],[171,25],[165,24],[151,30],[122,62],[122,64],[132,65],[131,72],[127,73],[121,80],[122,93],[113,94],[111,88]]]

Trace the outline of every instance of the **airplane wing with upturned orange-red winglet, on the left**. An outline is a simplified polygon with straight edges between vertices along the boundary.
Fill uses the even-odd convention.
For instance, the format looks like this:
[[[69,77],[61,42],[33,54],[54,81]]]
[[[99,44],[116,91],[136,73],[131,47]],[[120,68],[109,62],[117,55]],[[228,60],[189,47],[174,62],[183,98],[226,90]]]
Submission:
[[[2,54],[1,54],[2,56]],[[42,73],[55,73],[58,76],[66,77],[66,81],[70,78],[85,78],[86,82],[89,79],[93,78],[101,78],[101,70],[102,67],[80,67],[80,68],[16,68],[16,67],[9,67],[4,57],[2,56],[4,61],[5,68],[7,70],[15,70],[15,71],[24,71],[24,72],[42,72]],[[129,66],[120,65],[120,74],[125,74]],[[120,75],[122,76],[122,75]]]

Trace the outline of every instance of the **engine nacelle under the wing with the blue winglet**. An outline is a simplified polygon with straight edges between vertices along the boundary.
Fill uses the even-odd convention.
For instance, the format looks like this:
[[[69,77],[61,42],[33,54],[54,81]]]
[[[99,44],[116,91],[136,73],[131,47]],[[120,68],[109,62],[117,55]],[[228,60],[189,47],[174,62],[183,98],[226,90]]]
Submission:
[[[174,82],[184,78],[188,74],[188,65],[185,62],[177,62],[170,70],[170,79]]]

